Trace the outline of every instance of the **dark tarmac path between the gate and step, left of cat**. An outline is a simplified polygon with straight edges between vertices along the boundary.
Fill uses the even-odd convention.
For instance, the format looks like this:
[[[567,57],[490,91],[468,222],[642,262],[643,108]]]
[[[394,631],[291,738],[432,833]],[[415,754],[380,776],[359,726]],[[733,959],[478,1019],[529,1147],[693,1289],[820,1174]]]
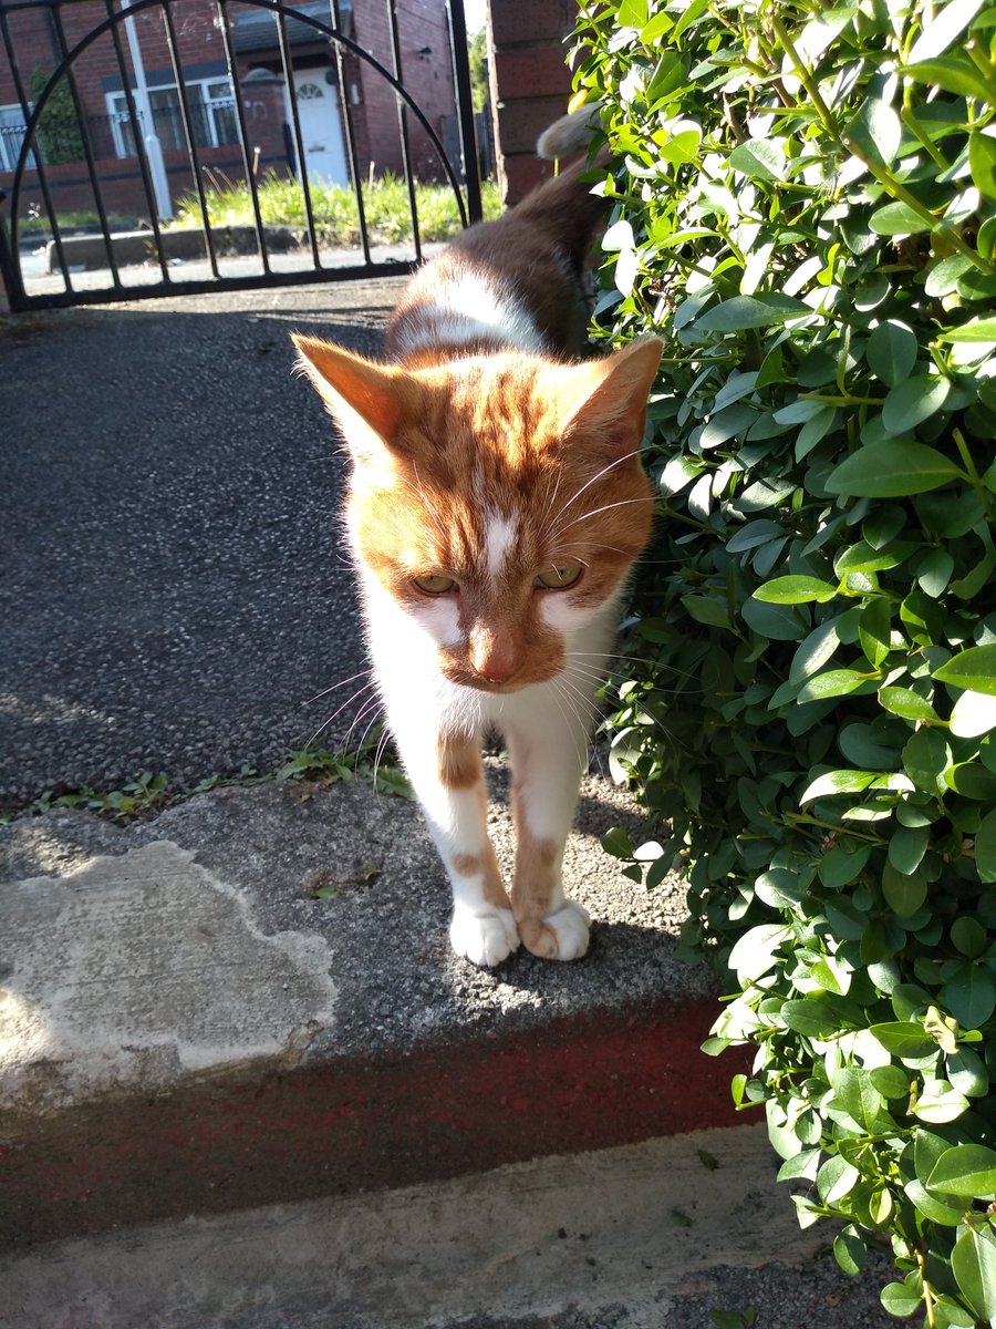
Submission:
[[[272,768],[363,682],[316,699],[364,658],[288,334],[374,352],[402,280],[0,320],[0,807]]]

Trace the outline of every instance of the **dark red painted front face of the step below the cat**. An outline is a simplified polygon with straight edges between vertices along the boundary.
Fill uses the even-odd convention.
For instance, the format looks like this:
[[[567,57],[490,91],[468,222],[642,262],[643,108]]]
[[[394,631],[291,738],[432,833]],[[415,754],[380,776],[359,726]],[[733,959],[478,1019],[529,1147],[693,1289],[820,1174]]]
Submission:
[[[4,1130],[0,1247],[483,1172],[745,1120],[713,1002],[102,1100]]]

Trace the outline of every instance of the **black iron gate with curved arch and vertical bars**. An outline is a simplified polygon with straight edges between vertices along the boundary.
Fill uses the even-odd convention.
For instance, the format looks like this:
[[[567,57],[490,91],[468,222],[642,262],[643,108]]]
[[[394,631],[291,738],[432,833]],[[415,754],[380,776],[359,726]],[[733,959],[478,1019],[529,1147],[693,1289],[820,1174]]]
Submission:
[[[291,96],[290,96],[291,118],[292,118],[291,128],[293,134],[295,153],[297,157],[297,163],[301,175],[300,182],[304,194],[307,241],[311,249],[312,266],[293,271],[275,272],[270,264],[263,217],[259,205],[259,193],[256,187],[256,179],[248,158],[246,109],[243,104],[242,88],[239,85],[239,80],[236,76],[235,52],[232,47],[231,31],[228,27],[228,0],[214,0],[214,8],[219,19],[218,27],[220,29],[222,41],[224,47],[224,58],[228,68],[228,77],[231,80],[234,98],[235,98],[235,113],[239,125],[239,148],[242,152],[243,170],[252,197],[252,213],[254,213],[258,255],[263,266],[262,274],[256,275],[232,276],[222,274],[218,267],[218,251],[216,251],[215,238],[212,234],[212,226],[208,219],[207,199],[206,199],[201,166],[198,162],[198,149],[193,132],[190,100],[183,81],[183,61],[179,54],[179,45],[177,40],[177,31],[173,16],[173,5],[177,3],[178,0],[130,0],[126,8],[114,9],[113,0],[105,0],[108,17],[102,23],[97,24],[74,47],[69,48],[61,21],[61,8],[65,4],[65,0],[13,0],[13,3],[11,3],[11,0],[0,0],[0,37],[3,37],[7,58],[9,61],[9,66],[13,74],[17,97],[25,112],[25,136],[15,167],[13,185],[9,195],[9,221],[7,222],[7,225],[4,225],[4,219],[3,217],[0,217],[0,276],[3,276],[7,284],[8,299],[11,303],[11,308],[13,311],[24,311],[31,308],[65,307],[73,304],[94,304],[94,303],[106,303],[121,299],[129,299],[129,300],[149,299],[162,295],[198,294],[203,291],[222,290],[222,288],[251,290],[262,286],[292,286],[308,282],[348,280],[351,278],[357,278],[357,276],[386,276],[410,270],[410,267],[413,266],[412,263],[406,263],[404,260],[376,263],[371,256],[363,190],[359,179],[359,157],[353,137],[352,113],[348,97],[343,97],[343,106],[345,110],[343,128],[345,132],[347,155],[349,159],[352,189],[353,189],[353,197],[356,199],[357,217],[360,223],[360,245],[363,251],[363,263],[341,266],[341,267],[323,267],[320,263],[317,234],[315,230],[315,217],[311,202],[311,187],[308,182],[308,169],[304,155],[304,141],[301,136],[300,117],[297,113],[297,101],[296,97],[292,94],[293,64],[287,37],[288,19],[293,19],[296,23],[303,23],[313,28],[317,36],[325,37],[329,40],[329,43],[332,43],[336,53],[336,65],[339,70],[340,88],[343,88],[343,58],[345,52],[349,52],[359,60],[364,61],[378,74],[378,77],[384,78],[384,81],[393,88],[397,98],[401,159],[404,165],[409,210],[412,215],[414,262],[416,263],[421,262],[422,253],[421,253],[421,241],[418,237],[418,213],[416,207],[414,177],[412,173],[412,159],[410,159],[410,146],[409,146],[409,132],[408,132],[409,112],[418,121],[421,129],[426,134],[429,142],[432,144],[440,158],[442,169],[446,174],[446,179],[449,181],[449,185],[453,189],[454,197],[457,199],[457,207],[459,210],[462,225],[467,226],[481,219],[481,182],[477,171],[477,141],[474,133],[474,110],[470,94],[470,66],[467,57],[466,23],[463,19],[462,0],[446,0],[446,7],[449,13],[449,27],[450,27],[450,54],[453,58],[453,78],[454,78],[454,94],[457,104],[457,118],[459,125],[459,141],[466,170],[466,179],[463,183],[466,198],[463,191],[461,190],[461,183],[457,171],[454,169],[454,165],[446,155],[446,150],[444,149],[440,137],[433,130],[424,112],[417,105],[410,93],[405,89],[401,81],[401,49],[398,40],[396,0],[385,0],[388,8],[389,28],[390,28],[392,62],[394,65],[393,73],[389,69],[386,69],[371,52],[365,51],[363,47],[357,45],[357,43],[355,43],[351,37],[345,36],[345,33],[340,28],[340,13],[339,13],[337,0],[332,0],[333,13],[336,17],[335,25],[324,23],[320,19],[316,19],[313,15],[297,9],[292,3],[286,4],[283,3],[283,0],[239,0],[242,5],[248,5],[254,9],[267,11],[274,15],[278,31],[278,47],[280,52],[280,65],[283,70],[283,77],[287,82],[287,86],[291,89]],[[207,3],[208,0],[206,0],[206,5]],[[61,62],[52,73],[42,92],[39,94],[31,113],[28,113],[29,98],[27,94],[27,89],[24,86],[24,81],[20,74],[20,68],[16,60],[16,53],[13,49],[13,43],[11,39],[11,31],[8,24],[8,16],[11,13],[27,9],[31,9],[35,13],[37,13],[40,9],[49,11],[49,13],[52,15],[52,28],[57,37],[58,49],[62,56]],[[207,254],[207,260],[210,262],[211,266],[212,275],[211,278],[193,279],[193,280],[191,279],[175,280],[174,278],[170,276],[170,268],[165,254],[165,246],[162,242],[163,233],[158,219],[158,209],[155,203],[153,171],[149,161],[149,154],[142,136],[138,132],[135,132],[134,140],[135,140],[135,152],[138,157],[138,166],[141,171],[142,186],[145,190],[146,201],[149,203],[151,238],[155,251],[155,259],[158,262],[162,276],[159,282],[126,286],[121,282],[118,263],[114,256],[114,246],[112,243],[112,231],[108,221],[108,211],[106,207],[104,206],[96,157],[93,154],[93,148],[86,129],[86,120],[82,113],[82,104],[80,101],[80,93],[76,86],[76,78],[73,76],[73,65],[77,61],[77,58],[84,52],[89,51],[90,47],[100,37],[102,37],[105,33],[110,33],[114,44],[117,64],[122,76],[121,82],[125,94],[125,101],[127,105],[129,118],[137,129],[137,126],[141,124],[141,117],[138,116],[135,97],[131,90],[129,69],[125,61],[124,48],[121,43],[120,27],[129,17],[142,13],[146,9],[159,9],[162,11],[163,15],[166,44],[170,52],[170,61],[173,65],[173,73],[177,82],[181,122],[183,126],[187,157],[195,182],[198,202],[201,205],[205,249]],[[90,187],[93,190],[94,202],[97,205],[97,215],[100,218],[101,235],[104,238],[104,246],[108,258],[108,270],[110,271],[112,275],[112,283],[105,287],[100,287],[98,290],[77,290],[73,287],[70,264],[68,262],[64,247],[64,237],[61,227],[58,226],[58,219],[52,202],[49,185],[45,178],[45,166],[41,157],[40,145],[37,142],[37,130],[41,122],[41,117],[52,98],[56,86],[61,82],[62,78],[65,78],[69,85],[73,98],[73,105],[76,108],[77,124],[80,128],[80,136],[84,149],[84,162],[89,173]],[[29,295],[25,291],[20,270],[19,247],[17,247],[19,246],[17,214],[24,187],[24,174],[29,169],[32,155],[35,158],[33,169],[37,174],[37,185],[41,191],[42,201],[45,203],[45,209],[48,211],[49,226],[52,230],[52,239],[58,259],[58,267],[61,270],[61,275],[65,282],[65,291],[39,294],[39,295]],[[1,190],[0,190],[0,202],[3,202]]]

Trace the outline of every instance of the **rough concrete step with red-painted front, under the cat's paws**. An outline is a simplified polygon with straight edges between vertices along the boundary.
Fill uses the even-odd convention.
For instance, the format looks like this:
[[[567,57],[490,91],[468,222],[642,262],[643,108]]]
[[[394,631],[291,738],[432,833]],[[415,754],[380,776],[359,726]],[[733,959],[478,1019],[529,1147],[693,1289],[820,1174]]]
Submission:
[[[636,813],[590,780],[567,870],[591,956],[494,973],[449,950],[417,808],[357,781],[7,828],[0,1244],[734,1124],[680,892],[619,874],[614,823]]]

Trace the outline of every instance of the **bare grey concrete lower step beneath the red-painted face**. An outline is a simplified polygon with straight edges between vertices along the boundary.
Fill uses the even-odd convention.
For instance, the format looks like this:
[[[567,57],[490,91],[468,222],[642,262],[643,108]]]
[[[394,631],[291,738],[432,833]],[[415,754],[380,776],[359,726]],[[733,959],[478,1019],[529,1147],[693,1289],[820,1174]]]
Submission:
[[[708,1166],[706,1166],[708,1163]],[[886,1329],[776,1192],[762,1126],[0,1257],[9,1329]]]

